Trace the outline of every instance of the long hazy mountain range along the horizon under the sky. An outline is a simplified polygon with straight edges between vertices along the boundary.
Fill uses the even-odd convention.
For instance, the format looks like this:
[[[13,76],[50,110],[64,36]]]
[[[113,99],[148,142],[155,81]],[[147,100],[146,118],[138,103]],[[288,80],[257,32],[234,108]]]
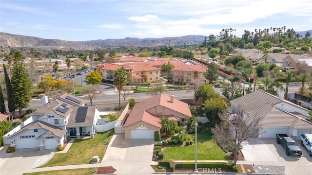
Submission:
[[[163,37],[163,38],[131,38],[124,39],[98,39],[91,41],[65,41],[59,39],[44,39],[34,36],[13,35],[0,33],[0,45],[2,47],[29,47],[44,50],[96,50],[99,48],[112,47],[157,47],[164,45],[194,45],[202,43],[204,35],[187,35],[181,37]],[[169,42],[169,40],[171,42]]]

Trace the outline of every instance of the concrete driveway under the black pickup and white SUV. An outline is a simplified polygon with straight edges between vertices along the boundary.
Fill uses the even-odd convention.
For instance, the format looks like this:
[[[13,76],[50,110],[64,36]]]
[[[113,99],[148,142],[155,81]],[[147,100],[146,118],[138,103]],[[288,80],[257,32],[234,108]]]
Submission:
[[[246,160],[245,163],[254,163],[256,167],[265,165],[282,168],[286,175],[312,175],[312,157],[300,144],[299,147],[303,154],[301,157],[287,156],[285,148],[277,144],[276,139],[260,139],[244,144],[242,154]]]

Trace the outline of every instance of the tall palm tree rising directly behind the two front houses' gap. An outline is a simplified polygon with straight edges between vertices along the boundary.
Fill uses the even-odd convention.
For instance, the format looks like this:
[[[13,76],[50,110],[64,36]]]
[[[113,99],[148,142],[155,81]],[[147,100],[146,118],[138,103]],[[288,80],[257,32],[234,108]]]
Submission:
[[[120,110],[121,109],[121,105],[120,105],[121,90],[127,84],[127,74],[126,74],[126,70],[124,70],[123,67],[115,71],[113,84],[116,86],[118,90],[119,110]]]

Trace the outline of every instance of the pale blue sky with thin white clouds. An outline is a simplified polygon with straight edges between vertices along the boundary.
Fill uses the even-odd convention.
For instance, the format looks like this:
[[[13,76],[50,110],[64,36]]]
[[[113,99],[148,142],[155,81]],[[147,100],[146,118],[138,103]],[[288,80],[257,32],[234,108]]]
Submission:
[[[311,0],[0,0],[0,32],[87,41],[312,29]]]

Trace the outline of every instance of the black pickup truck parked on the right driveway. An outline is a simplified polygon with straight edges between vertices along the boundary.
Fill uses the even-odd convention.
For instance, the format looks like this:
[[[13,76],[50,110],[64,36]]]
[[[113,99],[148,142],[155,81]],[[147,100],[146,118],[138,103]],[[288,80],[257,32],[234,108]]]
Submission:
[[[301,156],[302,151],[299,148],[299,144],[287,134],[276,134],[276,142],[282,144],[286,148],[286,155]]]

